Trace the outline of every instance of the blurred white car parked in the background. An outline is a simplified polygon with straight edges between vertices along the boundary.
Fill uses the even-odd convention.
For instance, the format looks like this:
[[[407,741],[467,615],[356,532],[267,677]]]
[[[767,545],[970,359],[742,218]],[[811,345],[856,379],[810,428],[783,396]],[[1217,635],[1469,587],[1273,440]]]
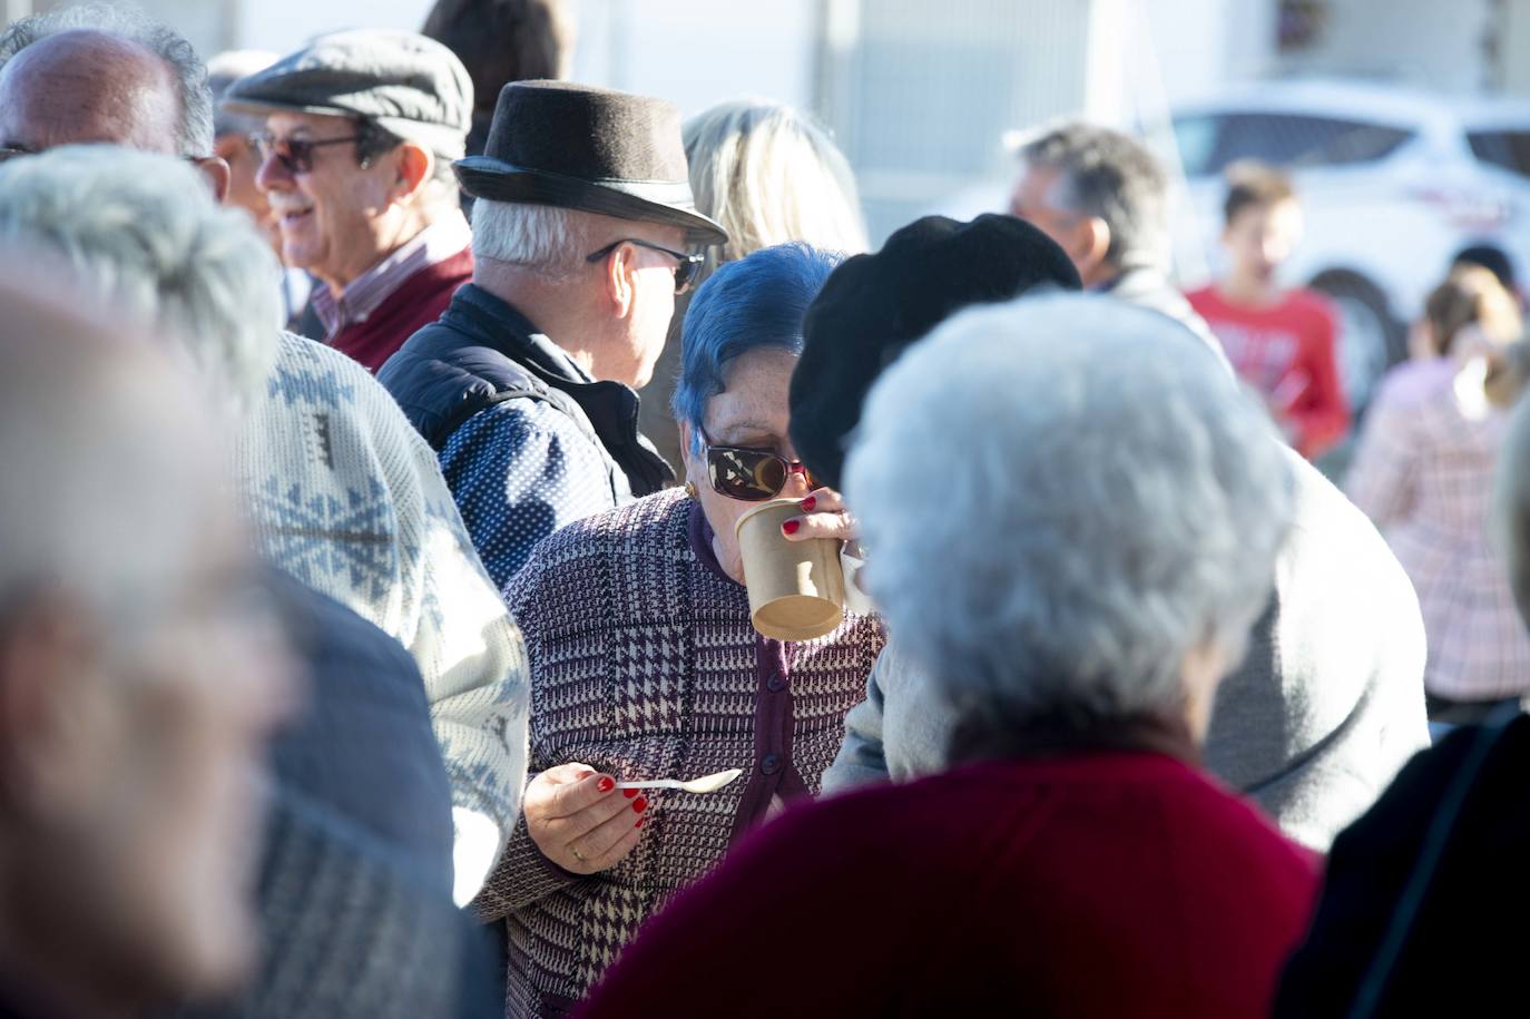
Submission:
[[[1178,219],[1212,271],[1226,167],[1259,159],[1291,173],[1307,234],[1288,282],[1337,303],[1339,367],[1356,409],[1405,356],[1406,324],[1457,252],[1486,245],[1518,280],[1530,272],[1530,103],[1276,81],[1178,106],[1174,138],[1189,191]],[[1177,248],[1183,256],[1183,239]]]

